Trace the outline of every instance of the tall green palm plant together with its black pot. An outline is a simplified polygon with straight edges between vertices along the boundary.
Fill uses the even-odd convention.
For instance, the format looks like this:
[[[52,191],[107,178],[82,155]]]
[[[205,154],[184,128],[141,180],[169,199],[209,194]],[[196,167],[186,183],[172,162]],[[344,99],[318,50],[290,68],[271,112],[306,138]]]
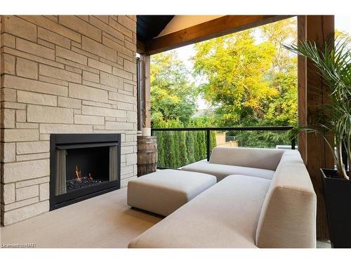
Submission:
[[[316,123],[296,128],[293,136],[301,130],[318,133],[324,137],[336,169],[321,169],[324,182],[326,213],[333,248],[351,248],[351,180],[350,169],[345,169],[343,154],[351,165],[351,53],[350,39],[336,41],[336,45],[324,43],[318,48],[311,41],[285,46],[298,55],[312,60],[328,86],[330,105],[321,105]],[[334,135],[336,151],[327,140]]]

